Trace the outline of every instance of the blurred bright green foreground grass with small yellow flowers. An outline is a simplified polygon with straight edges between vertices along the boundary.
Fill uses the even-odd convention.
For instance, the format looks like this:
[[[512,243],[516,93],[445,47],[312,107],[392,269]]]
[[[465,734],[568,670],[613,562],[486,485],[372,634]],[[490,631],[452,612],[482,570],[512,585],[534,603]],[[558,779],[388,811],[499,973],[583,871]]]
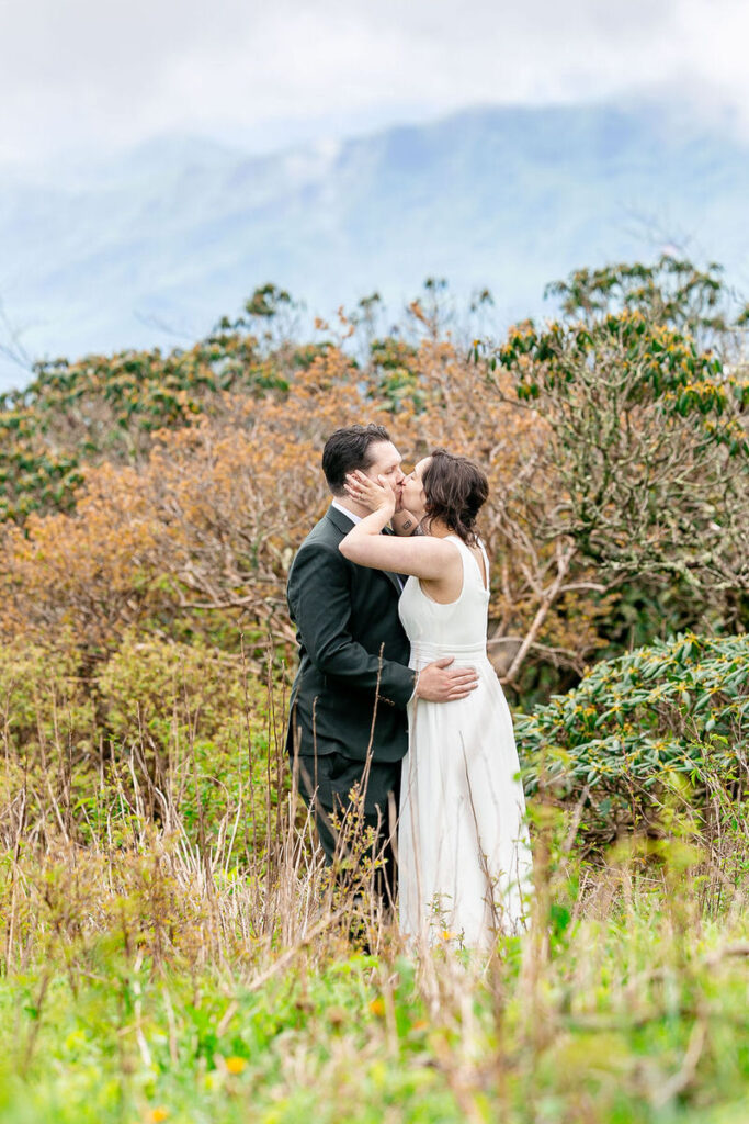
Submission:
[[[241,971],[79,948],[2,980],[0,1121],[743,1122],[749,922],[614,883],[486,970],[395,945]]]

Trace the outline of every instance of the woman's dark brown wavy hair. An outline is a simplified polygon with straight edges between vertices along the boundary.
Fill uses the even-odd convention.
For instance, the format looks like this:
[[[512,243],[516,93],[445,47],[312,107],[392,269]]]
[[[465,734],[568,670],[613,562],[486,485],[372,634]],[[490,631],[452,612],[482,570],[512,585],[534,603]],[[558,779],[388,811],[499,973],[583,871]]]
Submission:
[[[428,519],[440,519],[468,546],[476,543],[476,516],[488,497],[488,481],[466,456],[445,448],[430,453],[421,483]]]

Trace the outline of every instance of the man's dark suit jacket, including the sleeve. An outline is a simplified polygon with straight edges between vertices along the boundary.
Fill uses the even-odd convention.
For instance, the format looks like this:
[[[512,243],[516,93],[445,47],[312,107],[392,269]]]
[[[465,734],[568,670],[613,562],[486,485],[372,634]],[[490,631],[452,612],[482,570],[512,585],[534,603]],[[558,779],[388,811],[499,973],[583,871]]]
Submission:
[[[350,519],[330,507],[289,573],[300,665],[286,745],[290,753],[364,761],[372,742],[374,761],[400,761],[408,750],[405,705],[414,686],[398,616],[400,586],[395,574],[344,558],[338,544],[350,528]]]

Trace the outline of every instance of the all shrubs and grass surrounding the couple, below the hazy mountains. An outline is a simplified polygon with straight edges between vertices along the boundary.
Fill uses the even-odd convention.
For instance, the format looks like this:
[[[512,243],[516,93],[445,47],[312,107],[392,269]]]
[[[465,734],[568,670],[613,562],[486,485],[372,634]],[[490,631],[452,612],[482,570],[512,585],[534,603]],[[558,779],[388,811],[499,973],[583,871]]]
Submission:
[[[502,339],[430,282],[300,342],[267,285],[4,396],[0,1120],[746,1118],[741,317],[672,259],[552,289]],[[362,419],[490,477],[536,885],[487,964],[327,878],[282,752],[285,575]]]

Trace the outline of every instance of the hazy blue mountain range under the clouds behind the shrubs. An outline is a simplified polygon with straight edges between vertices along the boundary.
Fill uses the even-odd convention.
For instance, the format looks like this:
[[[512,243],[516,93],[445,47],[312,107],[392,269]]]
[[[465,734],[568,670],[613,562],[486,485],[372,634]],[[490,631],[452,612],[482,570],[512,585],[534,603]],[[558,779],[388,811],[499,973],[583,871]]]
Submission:
[[[167,136],[0,169],[0,301],[47,356],[188,343],[266,281],[328,315],[445,277],[487,285],[504,324],[547,281],[666,243],[749,288],[747,198],[749,145],[657,106],[477,109],[268,156]]]

